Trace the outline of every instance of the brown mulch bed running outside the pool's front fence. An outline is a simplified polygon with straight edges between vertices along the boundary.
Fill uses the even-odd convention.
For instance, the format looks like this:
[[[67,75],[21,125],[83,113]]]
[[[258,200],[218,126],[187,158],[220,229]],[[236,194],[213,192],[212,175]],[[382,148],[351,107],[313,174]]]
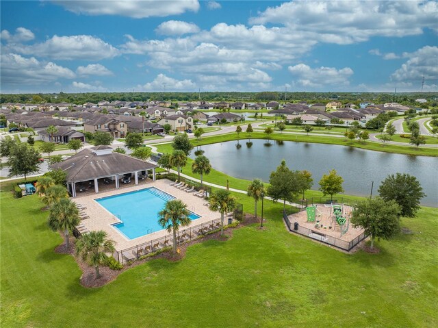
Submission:
[[[198,244],[199,242],[204,242],[205,240],[227,241],[233,237],[234,229],[244,227],[246,225],[250,225],[253,223],[260,223],[260,218],[255,218],[253,215],[250,214],[244,214],[244,220],[241,223],[239,223],[239,225],[237,225],[236,227],[229,227],[227,229],[224,229],[224,234],[226,235],[220,236],[220,230],[219,230],[217,232],[214,232],[213,234],[207,234],[202,238],[191,240],[190,242],[183,242],[183,244],[179,244],[177,246],[177,249],[179,250],[177,254],[172,253],[172,251],[164,251],[163,253],[146,257],[142,260],[134,260],[132,262],[129,262],[125,264],[121,270],[112,270],[107,266],[99,266],[99,273],[101,275],[99,279],[96,279],[96,269],[94,268],[94,266],[88,265],[88,263],[84,262],[81,259],[81,257],[75,255],[75,247],[74,247],[75,238],[73,238],[73,236],[70,237],[70,247],[68,247],[68,251],[66,251],[65,244],[61,244],[60,246],[55,248],[55,252],[61,254],[70,254],[73,257],[75,257],[75,260],[79,265],[79,268],[81,268],[82,270],[82,275],[80,279],[81,285],[86,288],[96,288],[96,287],[104,286],[107,283],[110,283],[111,281],[116,279],[118,275],[120,275],[120,273],[123,273],[125,270],[128,270],[133,266],[138,266],[145,262],[149,262],[151,260],[164,258],[171,262],[177,262],[185,257],[185,253],[188,247],[192,246],[193,244]],[[264,229],[264,227],[261,229]]]

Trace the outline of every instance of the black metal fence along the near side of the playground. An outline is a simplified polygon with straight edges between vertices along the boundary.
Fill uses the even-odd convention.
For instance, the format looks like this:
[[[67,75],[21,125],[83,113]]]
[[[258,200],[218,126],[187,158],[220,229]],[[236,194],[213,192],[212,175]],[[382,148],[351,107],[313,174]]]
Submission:
[[[333,236],[327,236],[326,234],[322,234],[320,231],[315,231],[312,229],[308,229],[306,227],[302,227],[298,223],[290,222],[287,217],[287,213],[283,211],[283,220],[287,225],[289,231],[292,231],[296,234],[300,234],[302,236],[306,236],[312,238],[314,240],[318,240],[320,242],[324,242],[324,244],[329,244],[331,246],[337,247],[338,249],[342,249],[344,251],[350,251],[353,247],[355,247],[359,242],[367,238],[367,236],[362,233],[360,236],[357,236],[355,239],[347,242],[346,240],[342,240]]]

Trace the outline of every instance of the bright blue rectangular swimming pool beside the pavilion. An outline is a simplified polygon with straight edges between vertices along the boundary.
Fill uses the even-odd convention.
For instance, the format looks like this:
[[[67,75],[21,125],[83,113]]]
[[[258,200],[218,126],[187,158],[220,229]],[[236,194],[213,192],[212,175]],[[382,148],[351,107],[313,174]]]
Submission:
[[[158,212],[172,199],[175,197],[151,187],[96,199],[96,202],[122,221],[113,227],[127,238],[134,239],[163,229],[158,224]],[[200,217],[190,212],[191,220]]]

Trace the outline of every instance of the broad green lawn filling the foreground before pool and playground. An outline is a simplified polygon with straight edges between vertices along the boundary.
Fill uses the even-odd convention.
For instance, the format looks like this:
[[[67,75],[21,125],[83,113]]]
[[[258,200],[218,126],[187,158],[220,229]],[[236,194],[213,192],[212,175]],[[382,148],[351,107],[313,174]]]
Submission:
[[[86,289],[73,257],[53,252],[62,238],[38,197],[0,197],[2,327],[438,325],[436,209],[404,218],[414,234],[377,242],[381,253],[348,255],[289,234],[281,205],[265,201],[266,230],[237,229],[179,262],[153,260]]]

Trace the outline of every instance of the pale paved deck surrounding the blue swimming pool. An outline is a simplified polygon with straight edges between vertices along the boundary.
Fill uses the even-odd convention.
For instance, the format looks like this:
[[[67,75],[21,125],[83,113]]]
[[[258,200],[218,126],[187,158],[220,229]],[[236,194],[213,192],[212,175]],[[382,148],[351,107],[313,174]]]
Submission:
[[[207,223],[210,220],[214,220],[220,217],[218,212],[211,212],[207,205],[207,201],[205,199],[194,196],[193,193],[188,193],[183,190],[179,190],[173,186],[170,186],[172,181],[168,179],[160,179],[157,181],[147,180],[146,183],[131,186],[128,188],[123,188],[122,190],[114,189],[107,192],[99,192],[83,195],[82,197],[76,197],[72,199],[75,203],[86,207],[83,212],[86,212],[90,218],[86,218],[81,220],[81,225],[84,225],[88,231],[96,231],[103,230],[106,231],[108,237],[114,240],[115,247],[117,251],[121,251],[123,249],[127,249],[129,247],[136,246],[137,244],[141,244],[144,242],[149,242],[151,240],[164,237],[169,233],[165,230],[155,231],[152,234],[141,236],[139,238],[135,238],[133,240],[129,240],[123,234],[121,234],[115,227],[112,227],[114,223],[120,222],[116,216],[107,211],[104,207],[102,207],[99,203],[97,203],[94,199],[99,199],[103,197],[113,196],[115,194],[123,194],[125,192],[131,192],[134,190],[140,190],[144,188],[155,187],[159,190],[167,192],[171,194],[173,197],[177,199],[181,199],[185,204],[187,204],[188,210],[198,214],[201,218],[192,221],[190,226],[199,225],[201,223]],[[189,226],[189,227],[190,227]]]

